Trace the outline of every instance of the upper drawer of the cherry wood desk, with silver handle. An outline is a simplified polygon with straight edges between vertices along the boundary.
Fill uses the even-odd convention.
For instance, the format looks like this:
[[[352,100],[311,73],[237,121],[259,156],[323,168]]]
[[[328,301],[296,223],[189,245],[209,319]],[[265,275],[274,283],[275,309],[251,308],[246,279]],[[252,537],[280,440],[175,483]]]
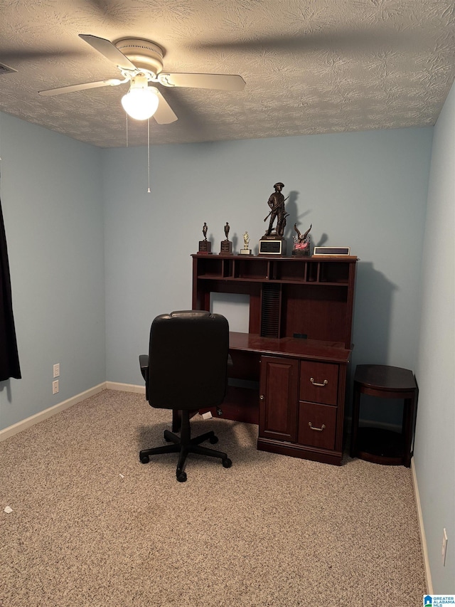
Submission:
[[[299,399],[336,405],[337,398],[338,364],[301,361]]]

